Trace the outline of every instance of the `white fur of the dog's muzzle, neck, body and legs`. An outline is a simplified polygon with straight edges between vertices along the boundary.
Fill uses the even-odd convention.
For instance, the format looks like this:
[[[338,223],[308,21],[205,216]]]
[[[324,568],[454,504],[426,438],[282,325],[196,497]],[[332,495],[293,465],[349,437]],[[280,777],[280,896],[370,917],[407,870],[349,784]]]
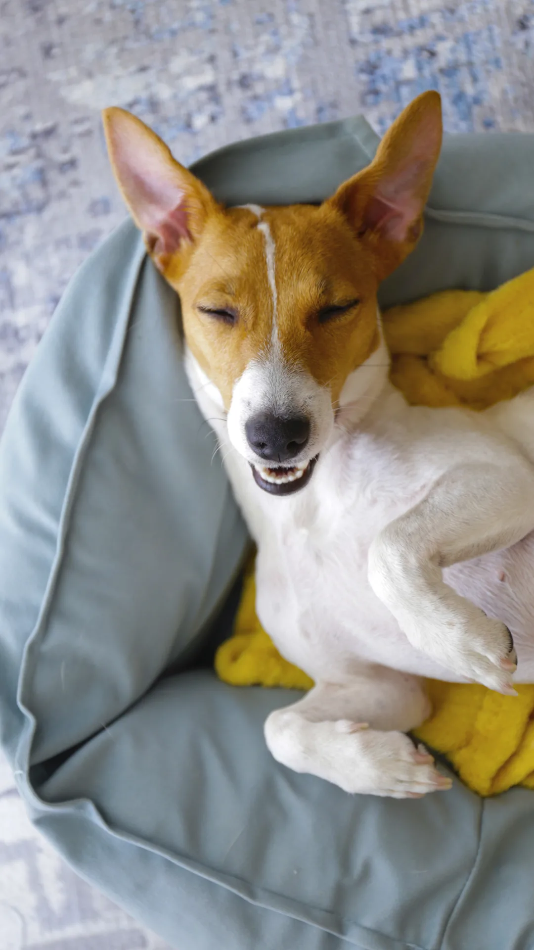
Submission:
[[[272,713],[269,748],[346,790],[402,797],[444,787],[402,735],[428,712],[414,677],[509,692],[507,626],[514,678],[534,682],[534,392],[484,413],[412,408],[386,364],[381,348],[353,373],[335,426],[313,380],[284,377],[282,401],[302,406],[308,386],[322,419],[304,453],[320,448],[315,472],[294,495],[254,483],[239,434],[247,407],[278,391],[265,365],[214,428],[258,545],[258,617],[317,684]],[[188,371],[197,389],[194,361]],[[213,416],[207,387],[198,400]]]

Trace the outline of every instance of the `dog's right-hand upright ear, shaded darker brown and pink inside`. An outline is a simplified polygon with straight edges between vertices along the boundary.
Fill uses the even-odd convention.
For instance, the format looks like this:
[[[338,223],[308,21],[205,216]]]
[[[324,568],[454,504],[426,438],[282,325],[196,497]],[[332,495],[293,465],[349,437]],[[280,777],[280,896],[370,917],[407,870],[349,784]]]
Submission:
[[[371,164],[327,202],[372,248],[379,280],[410,254],[421,236],[441,140],[440,95],[424,92],[391,125]]]

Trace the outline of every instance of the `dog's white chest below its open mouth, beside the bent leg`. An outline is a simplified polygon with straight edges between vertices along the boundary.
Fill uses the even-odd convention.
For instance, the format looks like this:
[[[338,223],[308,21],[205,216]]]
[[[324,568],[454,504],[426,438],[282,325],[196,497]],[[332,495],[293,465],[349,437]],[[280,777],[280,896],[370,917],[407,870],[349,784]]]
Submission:
[[[411,649],[368,581],[373,539],[425,494],[394,454],[371,439],[339,444],[302,496],[270,506],[257,614],[280,652],[314,677],[350,675],[361,659],[391,665],[391,650]]]

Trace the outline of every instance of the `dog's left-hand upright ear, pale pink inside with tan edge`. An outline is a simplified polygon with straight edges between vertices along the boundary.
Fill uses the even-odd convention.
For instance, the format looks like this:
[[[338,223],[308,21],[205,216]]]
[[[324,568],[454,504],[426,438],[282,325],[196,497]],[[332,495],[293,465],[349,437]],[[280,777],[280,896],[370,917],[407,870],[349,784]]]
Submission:
[[[174,254],[200,237],[206,218],[219,205],[140,119],[120,108],[105,109],[103,119],[115,178],[163,272]]]

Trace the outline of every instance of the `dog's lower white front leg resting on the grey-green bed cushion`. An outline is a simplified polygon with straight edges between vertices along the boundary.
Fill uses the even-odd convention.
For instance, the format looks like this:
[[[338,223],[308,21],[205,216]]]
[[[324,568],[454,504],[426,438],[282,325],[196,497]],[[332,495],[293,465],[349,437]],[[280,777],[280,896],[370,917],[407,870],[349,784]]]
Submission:
[[[344,683],[318,683],[293,706],[271,712],[265,738],[278,762],[345,791],[417,798],[451,784],[404,735],[428,715],[420,680],[372,666]]]

